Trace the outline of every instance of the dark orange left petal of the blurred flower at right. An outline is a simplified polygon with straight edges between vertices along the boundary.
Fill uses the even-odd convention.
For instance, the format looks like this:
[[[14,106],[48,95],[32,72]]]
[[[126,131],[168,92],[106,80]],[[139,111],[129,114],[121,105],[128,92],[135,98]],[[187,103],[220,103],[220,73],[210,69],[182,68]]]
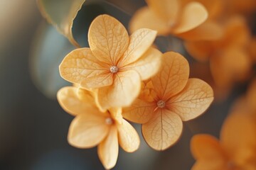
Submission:
[[[190,31],[189,31],[190,32]],[[196,60],[206,62],[215,48],[209,41],[185,42],[187,52]]]

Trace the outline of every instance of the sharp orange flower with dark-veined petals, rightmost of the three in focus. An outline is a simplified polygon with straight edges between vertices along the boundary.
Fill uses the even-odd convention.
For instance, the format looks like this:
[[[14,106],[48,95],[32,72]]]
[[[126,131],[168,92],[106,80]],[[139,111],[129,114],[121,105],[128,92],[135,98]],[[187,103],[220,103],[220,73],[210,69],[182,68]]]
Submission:
[[[142,94],[123,116],[142,124],[147,144],[164,150],[181,136],[182,120],[201,115],[213,101],[213,90],[200,79],[188,79],[187,60],[176,52],[163,55],[161,70],[146,82]]]

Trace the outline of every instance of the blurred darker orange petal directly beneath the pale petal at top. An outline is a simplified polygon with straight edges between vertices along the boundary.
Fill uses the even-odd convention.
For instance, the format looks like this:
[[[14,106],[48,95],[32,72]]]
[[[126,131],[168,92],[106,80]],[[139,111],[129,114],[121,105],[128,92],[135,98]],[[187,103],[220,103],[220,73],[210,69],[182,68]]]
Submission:
[[[177,35],[185,40],[219,40],[223,36],[223,28],[214,21],[206,21],[200,26]]]

